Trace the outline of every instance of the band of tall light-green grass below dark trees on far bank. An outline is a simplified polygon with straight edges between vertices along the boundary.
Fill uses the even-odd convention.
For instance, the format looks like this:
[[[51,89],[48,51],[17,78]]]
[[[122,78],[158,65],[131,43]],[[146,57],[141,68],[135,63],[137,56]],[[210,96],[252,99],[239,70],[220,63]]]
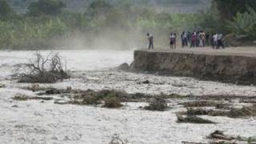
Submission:
[[[50,49],[58,39],[72,37],[75,32],[88,34],[108,29],[129,31],[139,28],[160,34],[162,31],[192,30],[196,23],[197,14],[168,14],[153,10],[134,10],[126,14],[117,9],[93,17],[68,11],[58,16],[20,16],[0,21],[0,49]]]

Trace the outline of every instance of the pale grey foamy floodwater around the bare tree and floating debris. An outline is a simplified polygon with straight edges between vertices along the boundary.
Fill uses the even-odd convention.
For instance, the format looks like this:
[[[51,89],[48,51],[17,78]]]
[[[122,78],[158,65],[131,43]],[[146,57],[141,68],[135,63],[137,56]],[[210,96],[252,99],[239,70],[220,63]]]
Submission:
[[[236,94],[256,95],[255,86],[236,86],[221,82],[198,81],[194,78],[164,77],[153,74],[134,74],[111,70],[123,62],[133,60],[133,51],[112,50],[66,50],[58,52],[66,59],[72,77],[56,84],[42,84],[82,90],[116,89],[129,93],[159,94]],[[114,134],[134,144],[177,144],[182,141],[206,141],[206,135],[214,130],[225,130],[228,134],[254,136],[254,118],[234,119],[209,117],[218,124],[194,125],[176,122],[174,107],[165,112],[138,109],[145,103],[124,103],[126,106],[110,110],[94,106],[59,106],[54,101],[17,102],[14,94],[34,95],[22,90],[14,80],[6,80],[14,66],[27,62],[34,51],[0,51],[0,143],[86,143],[107,144]],[[150,84],[142,82],[149,80]],[[54,98],[59,98],[54,96]],[[18,107],[17,107],[18,106]],[[208,118],[208,117],[207,117]]]

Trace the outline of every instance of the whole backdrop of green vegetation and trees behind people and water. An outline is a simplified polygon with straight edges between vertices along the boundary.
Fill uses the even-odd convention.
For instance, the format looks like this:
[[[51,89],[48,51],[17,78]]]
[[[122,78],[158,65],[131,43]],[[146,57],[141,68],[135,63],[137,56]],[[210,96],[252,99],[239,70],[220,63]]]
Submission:
[[[10,1],[12,8],[26,7],[15,14],[6,0],[0,0],[0,49],[53,49],[81,45],[127,48],[144,46],[145,34],[154,33],[156,45],[168,45],[169,33],[205,30],[223,34],[246,35],[254,39],[256,20],[254,0],[230,2],[213,0],[202,13],[171,13],[168,6],[199,5],[202,1],[109,1],[84,3],[82,12],[70,10],[70,2],[60,0]],[[190,2],[190,3],[187,3]],[[241,3],[242,2],[242,3]],[[79,4],[79,3],[78,3]],[[76,4],[76,5],[78,5]],[[157,5],[157,6],[156,6]],[[153,8],[156,7],[156,8]],[[227,13],[228,11],[229,13]],[[80,48],[80,47],[79,47]]]

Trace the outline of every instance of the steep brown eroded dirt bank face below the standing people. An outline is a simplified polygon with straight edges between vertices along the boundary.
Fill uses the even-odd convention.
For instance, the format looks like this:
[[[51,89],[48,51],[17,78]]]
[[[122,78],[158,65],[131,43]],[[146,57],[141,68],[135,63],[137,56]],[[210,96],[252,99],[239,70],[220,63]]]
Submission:
[[[130,67],[139,72],[185,76],[240,85],[256,84],[256,57],[250,54],[135,50]]]

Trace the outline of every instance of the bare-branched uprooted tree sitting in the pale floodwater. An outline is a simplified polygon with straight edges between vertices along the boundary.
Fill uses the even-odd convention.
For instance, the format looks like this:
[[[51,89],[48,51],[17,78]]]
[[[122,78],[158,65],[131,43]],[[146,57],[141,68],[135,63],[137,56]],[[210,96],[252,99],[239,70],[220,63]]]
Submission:
[[[39,52],[36,52],[28,63],[18,64],[14,76],[18,78],[18,82],[26,83],[54,83],[70,78],[66,62],[59,54],[44,56]]]

